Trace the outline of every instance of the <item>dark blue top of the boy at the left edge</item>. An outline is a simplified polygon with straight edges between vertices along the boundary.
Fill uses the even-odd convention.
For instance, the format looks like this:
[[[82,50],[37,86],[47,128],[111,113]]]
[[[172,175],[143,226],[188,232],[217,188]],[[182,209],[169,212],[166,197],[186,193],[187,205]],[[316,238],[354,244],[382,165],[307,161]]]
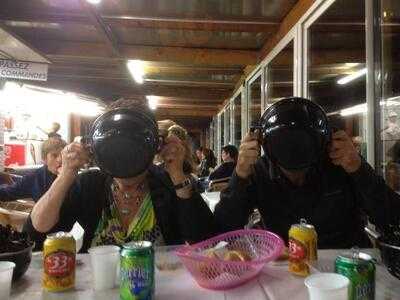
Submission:
[[[32,198],[35,202],[49,189],[56,175],[44,165],[32,173],[25,175],[13,184],[0,186],[0,201],[12,201]]]

